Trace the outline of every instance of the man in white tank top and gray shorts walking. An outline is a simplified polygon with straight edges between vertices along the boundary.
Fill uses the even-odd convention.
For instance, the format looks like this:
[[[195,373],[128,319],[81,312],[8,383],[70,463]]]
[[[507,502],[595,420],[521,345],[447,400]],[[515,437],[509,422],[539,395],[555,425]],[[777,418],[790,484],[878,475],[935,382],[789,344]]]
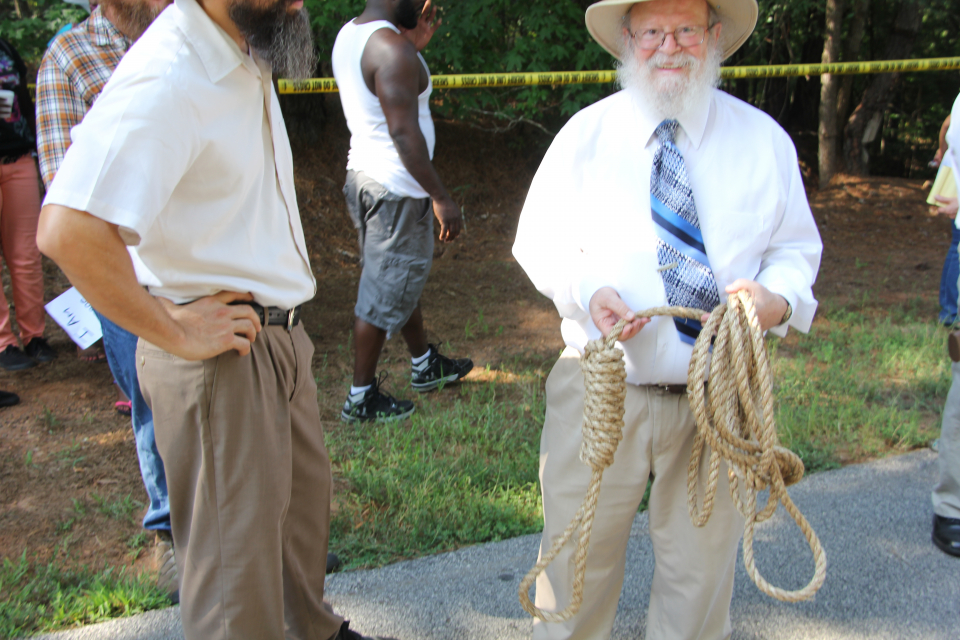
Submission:
[[[419,50],[439,27],[435,18],[429,0],[367,0],[333,47],[333,74],[351,134],[343,192],[363,260],[353,385],[340,414],[348,422],[413,413],[412,402],[383,393],[376,378],[383,343],[397,332],[410,350],[411,385],[418,391],[456,382],[473,368],[470,360],[447,358],[427,343],[420,313],[433,261],[433,216],[441,242],[455,240],[462,227],[460,207],[432,164],[433,86]]]

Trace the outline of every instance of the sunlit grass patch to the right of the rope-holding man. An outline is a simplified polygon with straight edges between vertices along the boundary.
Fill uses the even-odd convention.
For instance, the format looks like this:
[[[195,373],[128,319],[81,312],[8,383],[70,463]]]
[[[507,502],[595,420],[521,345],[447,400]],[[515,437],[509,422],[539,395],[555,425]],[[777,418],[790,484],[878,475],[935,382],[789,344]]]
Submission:
[[[767,342],[777,427],[809,471],[925,445],[950,388],[946,332],[911,307],[821,312],[809,334]]]

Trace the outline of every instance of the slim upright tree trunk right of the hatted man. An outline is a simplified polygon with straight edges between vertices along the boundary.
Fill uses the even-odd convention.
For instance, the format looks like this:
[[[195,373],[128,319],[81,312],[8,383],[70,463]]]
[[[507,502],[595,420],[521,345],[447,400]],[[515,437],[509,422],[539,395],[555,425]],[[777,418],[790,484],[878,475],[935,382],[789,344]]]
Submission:
[[[841,30],[845,0],[827,0],[827,24],[823,37],[824,64],[840,61]],[[837,96],[841,79],[831,73],[820,76],[820,126],[817,129],[817,161],[820,186],[825,187],[840,165],[840,121],[837,118]]]

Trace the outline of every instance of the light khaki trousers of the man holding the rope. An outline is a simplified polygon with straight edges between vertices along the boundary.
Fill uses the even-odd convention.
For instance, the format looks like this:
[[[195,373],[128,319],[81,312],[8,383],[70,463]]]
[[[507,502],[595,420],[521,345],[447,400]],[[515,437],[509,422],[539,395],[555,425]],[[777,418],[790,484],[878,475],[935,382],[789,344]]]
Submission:
[[[540,441],[540,485],[546,553],[579,509],[590,469],[579,459],[583,416],[580,356],[567,348],[547,378],[547,415]],[[687,465],[696,430],[687,397],[627,385],[623,440],[603,475],[587,556],[583,605],[563,624],[534,621],[535,640],[610,637],[623,586],[630,527],[650,493],[650,538],[655,569],[647,639],[713,640],[731,633],[730,600],[743,518],[728,493],[726,469],[713,515],[702,529],[687,512]],[[707,465],[701,469],[706,479]],[[537,580],[536,603],[559,611],[570,602],[574,546],[568,544]]]

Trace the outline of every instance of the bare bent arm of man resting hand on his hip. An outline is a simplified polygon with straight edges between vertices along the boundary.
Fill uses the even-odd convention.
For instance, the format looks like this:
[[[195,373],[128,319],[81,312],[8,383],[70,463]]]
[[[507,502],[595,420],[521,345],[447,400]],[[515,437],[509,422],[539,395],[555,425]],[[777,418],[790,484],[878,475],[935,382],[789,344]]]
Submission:
[[[154,298],[138,283],[116,225],[84,211],[48,204],[40,212],[37,245],[97,311],[113,322],[187,360],[236,349],[250,352],[260,319],[249,293],[221,291],[186,305]]]

